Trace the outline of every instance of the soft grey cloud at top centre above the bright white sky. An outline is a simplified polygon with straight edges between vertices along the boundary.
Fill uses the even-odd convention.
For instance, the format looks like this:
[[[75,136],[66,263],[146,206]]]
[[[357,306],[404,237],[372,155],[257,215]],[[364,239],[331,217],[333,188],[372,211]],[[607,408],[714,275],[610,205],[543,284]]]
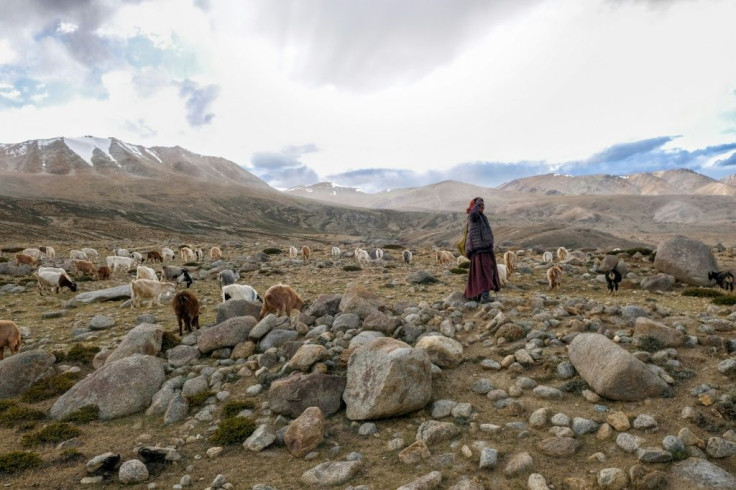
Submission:
[[[282,50],[289,49],[293,75],[304,83],[370,91],[426,76],[539,2],[262,2],[254,26]]]

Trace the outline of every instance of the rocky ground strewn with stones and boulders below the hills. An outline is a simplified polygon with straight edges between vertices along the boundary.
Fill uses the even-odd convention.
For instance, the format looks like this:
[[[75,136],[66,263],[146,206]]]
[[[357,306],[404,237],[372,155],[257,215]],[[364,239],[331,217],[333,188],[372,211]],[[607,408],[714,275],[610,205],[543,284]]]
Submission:
[[[0,473],[3,484],[78,488],[130,482],[138,488],[243,489],[736,486],[736,309],[715,306],[710,298],[683,296],[686,286],[679,282],[671,291],[641,289],[642,279],[657,273],[646,257],[618,255],[628,274],[618,296],[612,297],[592,260],[564,264],[562,287],[549,291],[549,264],[541,263],[539,251],[526,250],[495,301],[479,305],[462,297],[465,275],[436,265],[429,249],[414,249],[410,266],[398,260],[400,250],[387,249],[387,260],[346,271],[355,261],[331,260],[329,247],[314,247],[313,258],[305,263],[260,253],[270,246],[285,251],[288,243],[221,245],[222,263],[205,260],[188,266],[195,277],[190,290],[204,305],[203,328],[185,335],[176,348],[165,345],[168,350],[157,355],[160,362],[149,365],[134,357],[118,361],[128,362],[125,368],[107,364],[117,366],[118,374],[128,373],[98,388],[112,387],[117,395],[111,411],[147,393],[153,403],[149,398],[144,400],[148,408],[137,413],[80,423],[80,433],[61,444],[22,441],[69,410],[60,406],[68,402],[62,398],[70,398],[93,377],[84,376],[99,375],[101,368],[94,366],[106,358],[160,350],[156,343],[162,332],[178,333],[175,317],[166,303],[131,309],[124,297],[74,301],[79,293],[126,284],[129,278],[122,274],[107,281],[80,281],[77,293],[44,297],[31,276],[0,276],[0,319],[18,323],[25,336],[19,355],[34,350],[68,353],[79,345],[103,352],[94,366],[54,359],[50,368],[40,363],[42,377],[79,372],[67,395],[36,402],[9,398],[47,415],[33,424],[0,422],[0,457],[24,450],[41,459],[32,469]],[[110,253],[103,244],[98,249],[101,256]],[[68,256],[68,250],[57,247],[57,255]],[[596,257],[604,255],[600,251]],[[724,252],[716,257],[721,268],[733,267],[733,258]],[[261,294],[273,284],[290,284],[312,303],[305,310],[312,315],[295,314],[287,322],[243,320],[239,315],[253,311],[252,305],[219,306],[216,274],[223,267],[238,268],[239,282]],[[235,319],[223,321],[231,317]],[[367,333],[376,331],[380,333]],[[374,350],[367,360],[356,354],[350,369],[346,364],[357,343],[383,335],[414,346],[410,352],[418,364],[379,370],[398,371],[386,384],[405,395],[378,404],[368,394],[376,380],[365,373],[386,362],[390,345],[368,343]],[[200,355],[203,351],[207,354]],[[368,347],[357,352],[366,356]],[[9,372],[13,357],[6,351],[0,374]],[[431,370],[423,364],[426,357]],[[629,371],[617,374],[622,364],[633,366],[632,359],[648,368],[635,377],[627,377]],[[367,371],[350,379],[350,370],[355,374],[358,365]],[[280,383],[293,379],[285,378],[291,371],[347,377],[347,406],[330,404],[334,386],[315,394],[308,391],[316,390],[310,388],[315,385],[302,379],[296,387],[283,388]],[[415,380],[411,376],[417,372]],[[422,392],[429,379],[422,378],[425,374],[431,375],[428,392]],[[136,382],[140,386],[133,386]],[[0,383],[4,388],[7,383]],[[195,406],[197,393],[207,392]],[[631,399],[614,399],[622,394]],[[314,404],[322,413],[295,408],[310,396],[316,397]],[[93,399],[87,393],[77,403]],[[257,430],[246,441],[217,444],[212,436],[227,424],[226,407],[234,401],[242,402],[240,417]],[[372,412],[401,411],[417,403],[408,413],[371,417]],[[3,413],[7,410],[0,412],[0,420]]]

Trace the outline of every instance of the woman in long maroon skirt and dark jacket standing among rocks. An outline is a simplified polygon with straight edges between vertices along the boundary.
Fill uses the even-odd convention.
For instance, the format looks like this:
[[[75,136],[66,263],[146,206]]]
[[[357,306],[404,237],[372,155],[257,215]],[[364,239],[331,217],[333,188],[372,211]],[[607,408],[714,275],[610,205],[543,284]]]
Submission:
[[[480,197],[474,198],[465,213],[468,215],[465,255],[470,259],[465,297],[480,303],[489,303],[490,291],[498,292],[501,285],[496,255],[493,253],[493,231],[485,215],[485,202]]]

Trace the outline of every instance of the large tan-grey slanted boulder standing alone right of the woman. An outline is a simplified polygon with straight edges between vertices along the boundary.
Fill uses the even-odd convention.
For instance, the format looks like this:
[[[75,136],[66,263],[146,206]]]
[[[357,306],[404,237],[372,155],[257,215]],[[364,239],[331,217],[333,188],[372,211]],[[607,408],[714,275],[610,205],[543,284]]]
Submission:
[[[568,354],[580,376],[601,396],[623,401],[672,396],[664,380],[603,335],[577,335]]]

